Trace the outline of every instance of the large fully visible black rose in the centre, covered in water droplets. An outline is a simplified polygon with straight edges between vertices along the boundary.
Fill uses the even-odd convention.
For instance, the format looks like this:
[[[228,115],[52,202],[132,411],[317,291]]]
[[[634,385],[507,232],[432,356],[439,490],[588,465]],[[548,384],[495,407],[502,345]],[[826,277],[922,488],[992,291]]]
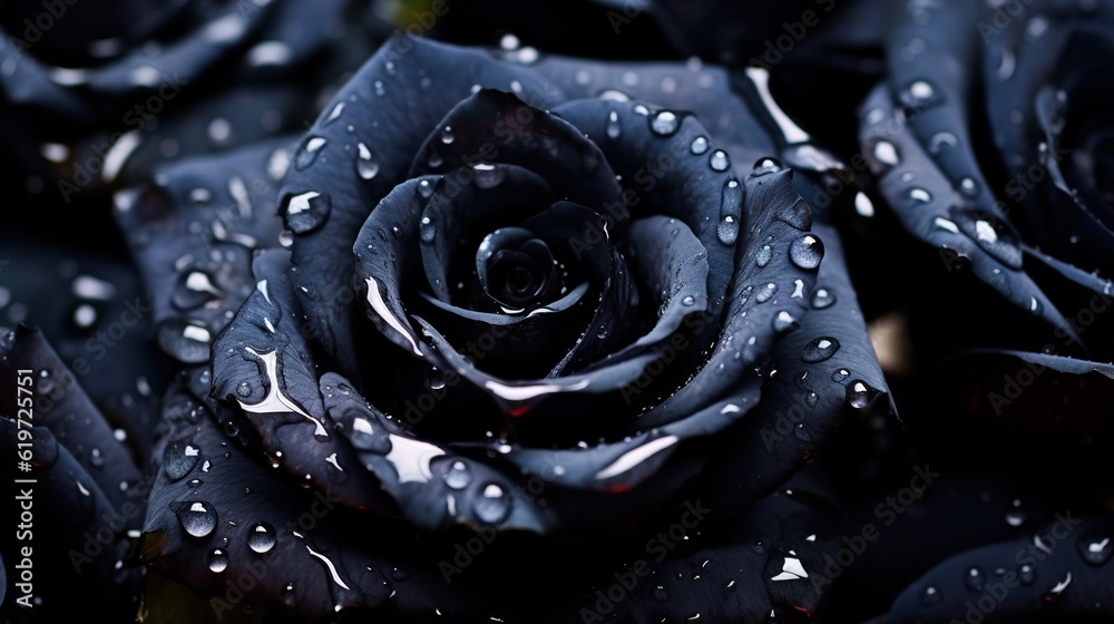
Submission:
[[[788,149],[764,103],[760,75],[399,36],[289,153],[283,245],[263,217],[233,230],[176,205],[175,176],[123,194],[149,285],[174,298],[160,344],[186,364],[139,558],[222,612],[818,608],[825,583],[785,582],[821,563],[827,494],[763,497],[844,413],[888,401],[839,240],[772,156],[820,153]],[[224,225],[182,236],[198,218]],[[186,253],[199,243],[228,248],[225,274],[198,264],[215,250]],[[693,535],[715,542],[670,542],[653,574],[729,547],[770,569],[737,604],[585,607],[568,585],[607,578],[598,557],[564,589],[509,572],[712,516]],[[470,578],[453,547],[478,539]],[[492,579],[506,604],[476,595]]]

